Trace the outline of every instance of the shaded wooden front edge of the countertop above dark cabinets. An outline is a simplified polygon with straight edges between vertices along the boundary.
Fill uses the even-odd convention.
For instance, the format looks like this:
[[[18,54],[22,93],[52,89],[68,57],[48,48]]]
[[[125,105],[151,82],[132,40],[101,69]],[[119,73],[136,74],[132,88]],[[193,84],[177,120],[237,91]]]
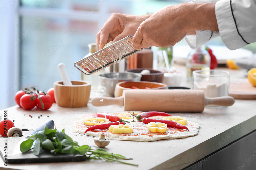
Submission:
[[[227,146],[231,142],[247,135],[256,129],[256,116],[253,116],[241,123],[229,128],[228,130],[200,143],[199,145],[188,149],[187,151],[163,162],[162,164],[151,168],[157,169],[183,169],[194,162],[204,158],[205,156]],[[199,130],[200,132],[200,130]],[[184,162],[183,164],[179,164]]]

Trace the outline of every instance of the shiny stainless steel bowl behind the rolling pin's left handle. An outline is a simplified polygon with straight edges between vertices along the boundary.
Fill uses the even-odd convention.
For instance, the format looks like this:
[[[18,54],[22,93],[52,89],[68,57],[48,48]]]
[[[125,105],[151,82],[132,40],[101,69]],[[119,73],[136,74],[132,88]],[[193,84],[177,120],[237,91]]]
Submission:
[[[101,86],[106,88],[106,94],[110,97],[114,97],[115,86],[119,82],[141,80],[141,74],[138,73],[101,73],[99,74],[99,80]]]

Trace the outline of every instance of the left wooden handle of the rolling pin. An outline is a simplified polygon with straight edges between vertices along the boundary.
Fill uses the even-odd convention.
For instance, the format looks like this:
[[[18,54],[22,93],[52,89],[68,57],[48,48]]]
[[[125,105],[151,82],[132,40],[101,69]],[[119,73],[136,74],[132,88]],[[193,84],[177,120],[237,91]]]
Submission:
[[[124,106],[124,97],[95,97],[92,99],[93,106],[107,106],[112,104]]]

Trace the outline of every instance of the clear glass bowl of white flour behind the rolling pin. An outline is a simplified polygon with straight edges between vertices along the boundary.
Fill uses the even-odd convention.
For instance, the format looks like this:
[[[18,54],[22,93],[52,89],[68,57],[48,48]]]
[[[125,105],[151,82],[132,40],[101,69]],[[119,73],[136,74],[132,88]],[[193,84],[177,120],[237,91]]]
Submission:
[[[193,71],[193,89],[204,90],[205,97],[229,96],[228,71],[195,70]]]

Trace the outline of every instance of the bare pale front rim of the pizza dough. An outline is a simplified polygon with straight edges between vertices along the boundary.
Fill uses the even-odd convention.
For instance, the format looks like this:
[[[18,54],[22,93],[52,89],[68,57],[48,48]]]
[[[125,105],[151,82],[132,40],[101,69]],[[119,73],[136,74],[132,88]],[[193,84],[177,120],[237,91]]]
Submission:
[[[74,131],[83,135],[88,135],[88,136],[100,136],[100,133],[95,133],[88,131],[86,133],[85,129],[79,129],[77,128],[76,125],[78,125],[78,119],[77,121],[73,122],[73,127]],[[135,123],[135,122],[134,122]],[[191,122],[187,121],[188,124],[193,124],[193,126],[188,126],[189,131],[185,130],[183,132],[177,132],[174,134],[167,134],[167,135],[152,135],[152,136],[147,136],[147,135],[139,135],[139,136],[123,136],[123,135],[107,135],[106,137],[109,140],[128,140],[128,141],[137,141],[137,142],[151,142],[151,141],[157,141],[157,140],[162,140],[162,139],[181,139],[181,138],[186,138],[190,136],[195,136],[198,134],[199,127],[200,125],[196,122]]]

